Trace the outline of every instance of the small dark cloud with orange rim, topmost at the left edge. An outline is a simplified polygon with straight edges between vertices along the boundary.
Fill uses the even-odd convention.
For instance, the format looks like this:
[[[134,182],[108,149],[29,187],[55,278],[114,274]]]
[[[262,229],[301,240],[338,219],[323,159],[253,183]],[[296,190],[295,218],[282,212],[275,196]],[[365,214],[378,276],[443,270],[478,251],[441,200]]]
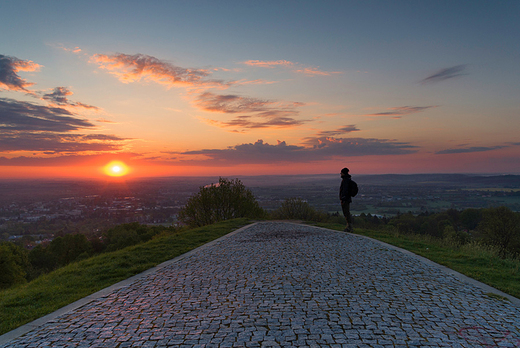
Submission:
[[[0,54],[0,87],[8,91],[26,92],[27,87],[34,83],[27,82],[19,75],[19,71],[39,71],[42,66],[30,60],[21,60],[15,57]]]

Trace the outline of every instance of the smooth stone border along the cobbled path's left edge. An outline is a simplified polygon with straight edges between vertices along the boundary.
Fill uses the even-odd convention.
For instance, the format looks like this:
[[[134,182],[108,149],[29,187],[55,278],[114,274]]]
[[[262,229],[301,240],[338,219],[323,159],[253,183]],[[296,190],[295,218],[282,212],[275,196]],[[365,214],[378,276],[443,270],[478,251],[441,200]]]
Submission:
[[[101,289],[93,294],[90,294],[86,297],[83,297],[82,299],[79,299],[75,302],[72,302],[64,307],[61,307],[60,309],[52,312],[52,313],[49,313],[47,315],[44,315],[43,317],[41,318],[38,318],[34,321],[31,321],[27,324],[24,324],[14,330],[11,330],[9,332],[6,332],[5,334],[1,335],[0,336],[0,345],[3,345],[3,344],[6,344],[6,343],[9,343],[9,341],[11,340],[14,340],[15,338],[18,338],[22,335],[25,335],[26,333],[56,319],[57,317],[61,316],[61,315],[64,315],[64,314],[67,314],[73,310],[76,310],[80,307],[83,307],[84,305],[86,304],[89,304],[90,302],[92,301],[95,301],[97,300],[98,298],[101,298],[101,297],[105,297],[107,296],[109,293],[115,291],[115,290],[119,290],[121,288],[125,288],[125,287],[128,287],[130,285],[132,285],[135,281],[143,278],[143,277],[146,277],[154,272],[157,272],[158,270],[164,268],[164,267],[167,267],[173,263],[176,263],[176,262],[179,262],[181,261],[182,259],[185,259],[186,257],[189,257],[190,255],[194,254],[195,252],[199,251],[200,249],[204,249],[204,248],[207,248],[207,247],[210,247],[216,243],[219,243],[221,240],[223,239],[226,239],[228,237],[231,237],[237,233],[240,233],[242,232],[243,230],[245,229],[248,229],[256,224],[258,224],[259,222],[253,222],[251,224],[248,224],[246,226],[243,226],[243,227],[240,227],[239,229],[235,230],[235,231],[232,231],[232,232],[229,232],[228,234],[222,236],[222,237],[219,237],[215,240],[212,240],[211,242],[208,242],[204,245],[201,245],[195,249],[192,249],[184,254],[181,254],[171,260],[168,260],[168,261],[164,261],[160,264],[158,264],[157,266],[155,267],[152,267],[152,268],[149,268],[147,269],[146,271],[143,271],[141,273],[138,273],[130,278],[127,278],[125,280],[122,280],[118,283],[115,283],[115,284],[112,284],[104,289]]]

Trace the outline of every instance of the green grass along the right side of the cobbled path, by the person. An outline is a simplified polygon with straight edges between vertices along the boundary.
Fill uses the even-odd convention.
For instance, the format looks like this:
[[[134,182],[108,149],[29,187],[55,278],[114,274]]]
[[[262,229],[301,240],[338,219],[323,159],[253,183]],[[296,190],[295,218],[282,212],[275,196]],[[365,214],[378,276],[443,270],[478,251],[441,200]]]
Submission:
[[[315,225],[339,231],[345,228],[344,225],[336,223]],[[355,229],[354,232],[409,250],[520,298],[520,260],[501,259],[489,247],[477,243],[456,247],[429,236],[399,235],[391,231]]]

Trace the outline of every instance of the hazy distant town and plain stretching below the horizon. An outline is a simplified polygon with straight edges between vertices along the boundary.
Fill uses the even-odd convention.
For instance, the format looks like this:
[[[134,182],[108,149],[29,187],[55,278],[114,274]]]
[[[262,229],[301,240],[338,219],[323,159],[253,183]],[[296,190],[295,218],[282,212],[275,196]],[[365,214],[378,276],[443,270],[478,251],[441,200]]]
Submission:
[[[267,210],[299,197],[318,210],[340,211],[339,175],[238,177]],[[359,175],[354,214],[394,216],[447,209],[507,206],[520,211],[519,175]],[[151,178],[133,181],[0,181],[0,238],[29,245],[56,234],[99,233],[139,222],[172,225],[188,198],[213,177]]]

